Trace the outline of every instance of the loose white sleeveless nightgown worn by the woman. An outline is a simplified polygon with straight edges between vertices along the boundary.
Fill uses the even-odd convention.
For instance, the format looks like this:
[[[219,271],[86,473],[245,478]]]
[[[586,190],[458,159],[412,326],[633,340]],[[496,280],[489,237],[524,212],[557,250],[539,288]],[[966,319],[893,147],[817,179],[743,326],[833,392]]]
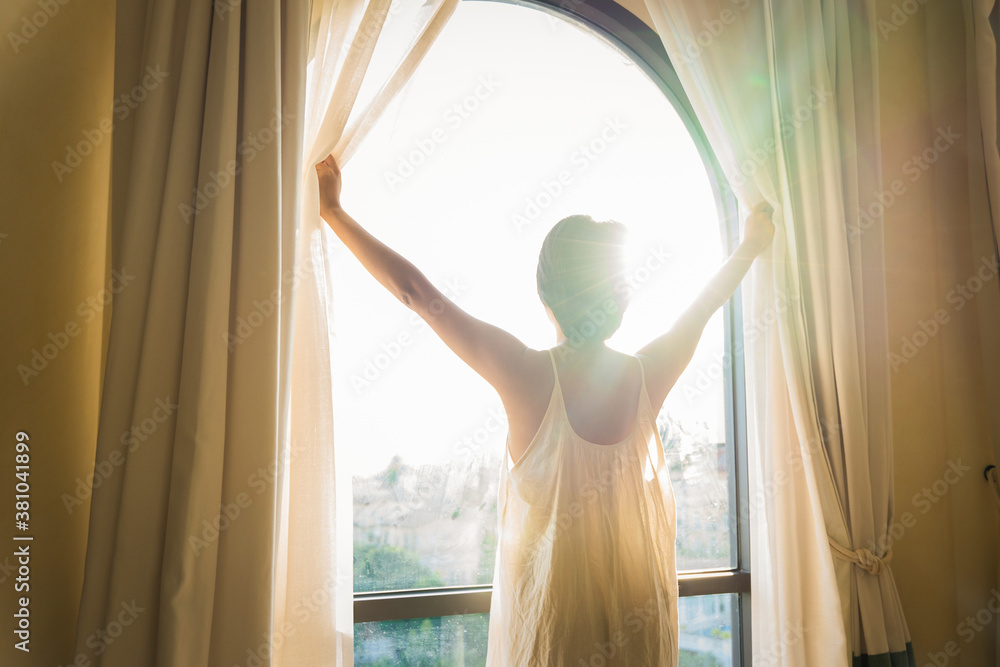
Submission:
[[[601,445],[552,372],[538,432],[502,466],[487,667],[674,667],[677,524],[645,373],[632,434]]]

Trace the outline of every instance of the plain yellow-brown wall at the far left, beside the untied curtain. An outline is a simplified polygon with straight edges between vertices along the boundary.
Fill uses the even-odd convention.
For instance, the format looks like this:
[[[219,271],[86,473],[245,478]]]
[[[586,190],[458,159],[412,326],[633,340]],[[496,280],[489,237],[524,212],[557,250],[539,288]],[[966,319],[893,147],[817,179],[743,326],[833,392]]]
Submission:
[[[0,664],[12,667],[72,659],[88,503],[71,514],[61,496],[93,469],[105,323],[114,2],[50,4],[51,17],[35,0],[0,3]],[[85,132],[96,147],[60,182],[52,163]],[[26,384],[33,350],[52,358]],[[31,445],[30,654],[11,639],[18,431]]]

